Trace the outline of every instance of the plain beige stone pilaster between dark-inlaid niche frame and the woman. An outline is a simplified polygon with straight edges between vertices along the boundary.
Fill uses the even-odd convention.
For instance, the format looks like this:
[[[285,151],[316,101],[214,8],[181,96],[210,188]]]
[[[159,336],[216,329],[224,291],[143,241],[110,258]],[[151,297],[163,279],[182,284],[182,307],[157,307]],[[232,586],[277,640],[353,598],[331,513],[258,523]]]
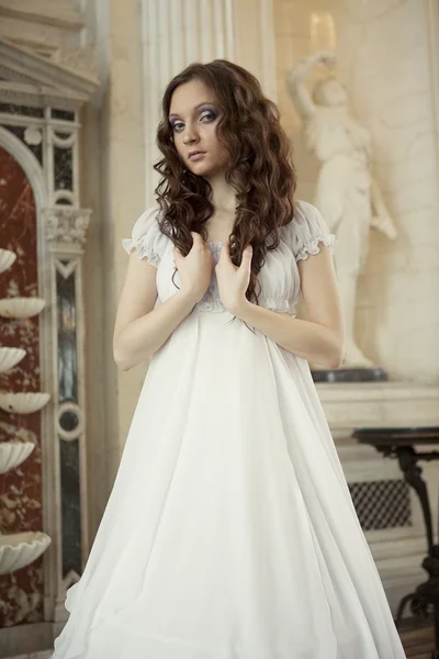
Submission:
[[[140,0],[95,2],[89,10],[87,42],[94,48],[103,82],[93,104],[85,109],[81,144],[81,187],[97,220],[86,264],[89,387],[93,392],[90,455],[99,467],[92,536],[114,482],[142,381],[142,368],[128,373],[116,368],[112,339],[127,266],[121,241],[145,206],[145,92]]]

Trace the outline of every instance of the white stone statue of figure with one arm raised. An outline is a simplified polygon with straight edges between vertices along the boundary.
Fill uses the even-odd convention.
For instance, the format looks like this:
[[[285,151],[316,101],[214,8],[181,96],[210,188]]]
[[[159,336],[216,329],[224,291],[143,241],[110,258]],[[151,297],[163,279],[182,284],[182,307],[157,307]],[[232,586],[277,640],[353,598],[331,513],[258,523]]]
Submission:
[[[286,76],[288,91],[302,118],[307,145],[320,164],[315,204],[337,236],[335,265],[346,324],[345,367],[370,368],[358,347],[354,310],[358,276],[369,248],[369,231],[396,237],[394,222],[371,175],[370,135],[349,111],[348,96],[334,74],[309,94],[304,78],[317,64],[334,69],[334,53],[319,52],[300,62]]]

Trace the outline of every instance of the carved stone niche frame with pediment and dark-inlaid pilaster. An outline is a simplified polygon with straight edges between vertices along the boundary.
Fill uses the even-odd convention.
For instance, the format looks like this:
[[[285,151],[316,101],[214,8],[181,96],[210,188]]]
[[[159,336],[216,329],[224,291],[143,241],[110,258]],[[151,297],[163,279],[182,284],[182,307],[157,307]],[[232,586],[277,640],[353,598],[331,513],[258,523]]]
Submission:
[[[44,556],[44,619],[56,634],[67,616],[66,589],[90,548],[82,254],[91,212],[80,206],[77,110],[99,81],[1,38],[0,62],[7,78],[0,82],[0,145],[34,191],[38,288],[47,301],[41,378],[53,404],[42,413],[42,505],[43,530],[54,544]]]

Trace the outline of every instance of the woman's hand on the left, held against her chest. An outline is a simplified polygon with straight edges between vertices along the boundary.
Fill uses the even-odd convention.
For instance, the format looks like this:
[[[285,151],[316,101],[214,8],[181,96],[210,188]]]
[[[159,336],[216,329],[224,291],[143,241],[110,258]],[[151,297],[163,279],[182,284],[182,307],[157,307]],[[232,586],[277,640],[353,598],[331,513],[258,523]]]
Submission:
[[[201,235],[195,232],[191,234],[193,245],[188,256],[183,256],[177,247],[173,247],[173,259],[180,276],[180,291],[196,304],[203,299],[211,283],[214,260]]]

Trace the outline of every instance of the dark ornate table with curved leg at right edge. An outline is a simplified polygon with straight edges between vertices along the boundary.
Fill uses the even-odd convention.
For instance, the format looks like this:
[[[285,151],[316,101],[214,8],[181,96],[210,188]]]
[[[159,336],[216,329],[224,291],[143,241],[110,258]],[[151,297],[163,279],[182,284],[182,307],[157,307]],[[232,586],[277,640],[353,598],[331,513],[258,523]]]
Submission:
[[[439,544],[434,539],[427,483],[423,479],[423,469],[418,465],[420,460],[439,460],[438,450],[425,450],[435,444],[439,445],[439,426],[356,428],[352,437],[360,444],[373,446],[386,457],[397,458],[405,481],[412,485],[419,498],[428,551],[421,565],[428,579],[420,583],[413,593],[402,599],[395,624],[396,627],[399,627],[408,603],[410,603],[410,610],[415,616],[427,617],[432,614],[436,640],[431,659],[439,659]],[[421,451],[416,450],[419,447],[423,447]]]

